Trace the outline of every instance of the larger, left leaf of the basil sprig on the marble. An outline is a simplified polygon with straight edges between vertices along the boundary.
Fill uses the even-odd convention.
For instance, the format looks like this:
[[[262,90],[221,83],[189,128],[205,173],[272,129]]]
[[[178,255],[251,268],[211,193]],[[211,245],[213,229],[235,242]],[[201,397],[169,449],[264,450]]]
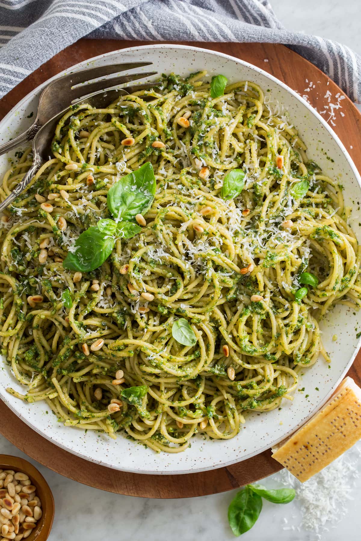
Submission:
[[[249,486],[238,492],[228,507],[228,522],[235,536],[251,530],[262,509],[262,498]]]

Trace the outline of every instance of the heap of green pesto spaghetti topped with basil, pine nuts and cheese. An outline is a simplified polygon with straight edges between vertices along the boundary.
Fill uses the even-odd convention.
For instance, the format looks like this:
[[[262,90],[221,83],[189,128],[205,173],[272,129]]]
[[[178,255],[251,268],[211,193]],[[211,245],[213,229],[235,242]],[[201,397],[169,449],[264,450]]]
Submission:
[[[257,84],[206,81],[74,105],[0,229],[2,353],[27,387],[8,391],[155,451],[292,400],[330,361],[321,316],[360,306],[342,187]]]

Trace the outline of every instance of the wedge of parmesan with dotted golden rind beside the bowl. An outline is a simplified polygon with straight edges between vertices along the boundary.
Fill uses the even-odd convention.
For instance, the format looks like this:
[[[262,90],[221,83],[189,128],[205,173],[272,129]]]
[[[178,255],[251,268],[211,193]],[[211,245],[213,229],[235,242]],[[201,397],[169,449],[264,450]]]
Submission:
[[[321,411],[272,449],[272,457],[304,483],[360,438],[361,389],[347,377]]]

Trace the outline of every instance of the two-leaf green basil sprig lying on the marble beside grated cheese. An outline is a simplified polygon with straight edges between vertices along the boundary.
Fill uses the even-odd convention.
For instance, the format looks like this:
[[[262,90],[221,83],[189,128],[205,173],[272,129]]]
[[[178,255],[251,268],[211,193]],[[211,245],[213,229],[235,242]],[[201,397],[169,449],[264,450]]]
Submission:
[[[262,510],[262,498],[275,504],[292,502],[293,489],[268,490],[263,485],[246,485],[228,507],[228,522],[235,536],[251,530]]]

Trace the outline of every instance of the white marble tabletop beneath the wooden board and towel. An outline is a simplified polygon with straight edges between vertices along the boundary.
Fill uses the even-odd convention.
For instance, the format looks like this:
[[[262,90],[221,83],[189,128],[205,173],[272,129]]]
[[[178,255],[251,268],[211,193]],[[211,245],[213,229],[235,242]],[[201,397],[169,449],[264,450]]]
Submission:
[[[346,43],[361,54],[359,14],[361,0],[271,0],[274,11],[286,28],[318,34]],[[1,420],[0,420],[1,422]],[[361,446],[359,446],[361,450]],[[0,436],[0,453],[23,456]],[[349,457],[356,460],[358,450]],[[214,496],[185,500],[149,500],[103,492],[75,483],[40,466],[54,494],[56,514],[49,541],[228,541],[234,539],[227,523],[227,507],[232,491]],[[361,471],[361,460],[359,460]],[[267,486],[280,486],[276,474],[264,481]],[[320,537],[302,527],[299,502],[287,506],[264,503],[262,514],[253,529],[242,536],[244,541],[359,541],[361,539],[361,477],[354,481],[347,502],[348,513],[335,527],[324,530]],[[351,485],[351,479],[350,479]],[[285,524],[285,517],[288,524]],[[285,529],[288,528],[288,529]]]

